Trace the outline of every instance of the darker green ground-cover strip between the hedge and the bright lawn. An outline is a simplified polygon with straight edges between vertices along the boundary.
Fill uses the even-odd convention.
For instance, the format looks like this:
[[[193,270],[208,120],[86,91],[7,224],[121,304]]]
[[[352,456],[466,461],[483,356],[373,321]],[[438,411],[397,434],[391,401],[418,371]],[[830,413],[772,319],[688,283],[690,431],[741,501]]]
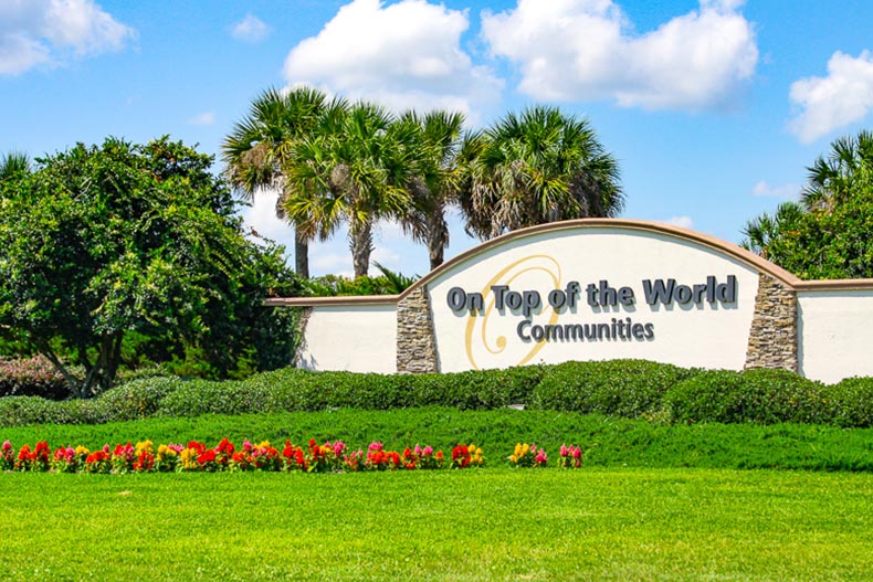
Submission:
[[[336,410],[315,413],[203,415],[148,419],[104,425],[40,425],[0,428],[0,441],[14,446],[46,440],[51,446],[83,444],[90,448],[150,438],[199,440],[214,446],[228,436],[291,438],[305,444],[341,438],[354,447],[382,441],[402,449],[416,443],[448,449],[475,442],[486,458],[499,464],[516,442],[537,443],[555,458],[561,443],[581,445],[586,464],[609,467],[779,468],[873,472],[873,428],[822,425],[700,424],[659,425],[578,413],[548,411],[459,411],[429,408],[393,411]]]

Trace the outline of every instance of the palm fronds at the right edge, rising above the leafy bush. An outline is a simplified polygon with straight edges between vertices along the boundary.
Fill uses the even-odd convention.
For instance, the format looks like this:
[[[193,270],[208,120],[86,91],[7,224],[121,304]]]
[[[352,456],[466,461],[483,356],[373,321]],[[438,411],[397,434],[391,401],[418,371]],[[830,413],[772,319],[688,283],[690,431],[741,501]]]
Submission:
[[[831,152],[819,156],[809,171],[801,202],[807,210],[832,211],[835,204],[859,189],[873,183],[873,131],[862,130],[856,138],[842,137],[831,144]],[[873,192],[871,192],[873,194]]]

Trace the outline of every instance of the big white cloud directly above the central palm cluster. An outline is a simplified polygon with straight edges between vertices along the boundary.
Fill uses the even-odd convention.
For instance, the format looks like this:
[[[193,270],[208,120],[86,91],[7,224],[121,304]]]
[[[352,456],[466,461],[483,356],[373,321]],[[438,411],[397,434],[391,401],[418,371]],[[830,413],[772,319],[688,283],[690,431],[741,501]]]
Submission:
[[[308,83],[396,109],[472,112],[499,98],[502,82],[461,49],[466,12],[425,0],[353,0],[285,60],[288,84]]]

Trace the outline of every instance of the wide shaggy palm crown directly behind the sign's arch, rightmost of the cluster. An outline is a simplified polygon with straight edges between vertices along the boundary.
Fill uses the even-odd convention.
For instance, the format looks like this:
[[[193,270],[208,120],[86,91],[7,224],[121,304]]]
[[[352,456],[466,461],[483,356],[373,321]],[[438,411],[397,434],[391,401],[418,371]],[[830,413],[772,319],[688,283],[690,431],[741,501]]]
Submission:
[[[586,119],[557,107],[511,113],[466,147],[474,156],[461,205],[467,232],[481,239],[544,222],[616,216],[623,207],[618,162]]]

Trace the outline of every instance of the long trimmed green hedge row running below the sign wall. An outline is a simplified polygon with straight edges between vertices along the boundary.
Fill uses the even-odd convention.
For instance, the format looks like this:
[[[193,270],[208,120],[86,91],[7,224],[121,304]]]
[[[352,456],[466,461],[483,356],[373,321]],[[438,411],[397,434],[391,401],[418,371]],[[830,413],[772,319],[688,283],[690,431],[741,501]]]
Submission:
[[[285,369],[243,381],[149,378],[88,401],[0,399],[0,426],[98,424],[334,408],[452,406],[600,413],[669,423],[780,422],[873,426],[873,379],[833,385],[783,370],[683,369],[641,360],[567,362],[451,374],[359,374]]]

